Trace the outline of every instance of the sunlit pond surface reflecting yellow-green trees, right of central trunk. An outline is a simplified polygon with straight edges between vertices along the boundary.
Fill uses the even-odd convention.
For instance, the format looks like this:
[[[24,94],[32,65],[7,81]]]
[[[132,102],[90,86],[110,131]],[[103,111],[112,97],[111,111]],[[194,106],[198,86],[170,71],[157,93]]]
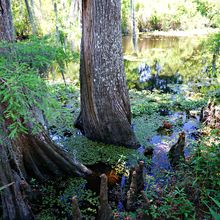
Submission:
[[[128,87],[138,90],[159,89],[169,92],[168,84],[200,82],[207,77],[202,62],[201,37],[139,35],[137,50],[132,38],[123,38]]]

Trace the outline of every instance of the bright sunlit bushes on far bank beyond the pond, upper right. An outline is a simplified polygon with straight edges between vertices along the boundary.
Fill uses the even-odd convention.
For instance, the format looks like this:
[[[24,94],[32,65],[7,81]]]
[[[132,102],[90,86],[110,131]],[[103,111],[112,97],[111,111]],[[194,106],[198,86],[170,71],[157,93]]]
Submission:
[[[123,14],[129,7],[129,1],[122,2]],[[195,1],[136,1],[136,21],[140,32],[147,30],[192,30],[195,28],[219,27],[219,2],[207,0]],[[131,19],[131,18],[130,18]],[[123,29],[130,24],[128,18],[122,16]],[[128,28],[128,26],[127,26]]]

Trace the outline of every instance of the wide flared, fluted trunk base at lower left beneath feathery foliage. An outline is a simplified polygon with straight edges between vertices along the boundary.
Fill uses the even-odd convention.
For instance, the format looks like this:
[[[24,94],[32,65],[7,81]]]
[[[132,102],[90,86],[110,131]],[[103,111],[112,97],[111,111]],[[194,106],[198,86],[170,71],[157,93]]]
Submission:
[[[26,195],[30,188],[27,182],[31,178],[45,181],[64,175],[83,176],[90,171],[55,145],[45,131],[35,135],[31,132],[20,134],[16,139],[10,139],[7,129],[10,119],[4,118],[3,103],[0,115],[3,116],[0,124],[0,186],[14,182],[1,191],[3,220],[31,220],[34,215]],[[31,126],[29,130],[32,130]]]

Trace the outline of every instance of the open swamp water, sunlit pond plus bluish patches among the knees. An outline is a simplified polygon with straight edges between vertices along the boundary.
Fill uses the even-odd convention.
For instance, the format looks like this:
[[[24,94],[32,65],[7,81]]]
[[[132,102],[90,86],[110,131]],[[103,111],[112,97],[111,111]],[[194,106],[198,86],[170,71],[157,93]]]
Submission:
[[[133,52],[132,39],[124,37],[125,72],[129,88],[139,91],[149,90],[152,94],[157,90],[158,96],[169,93],[171,101],[174,102],[180,95],[184,96],[188,92],[192,93],[192,87],[189,85],[185,86],[185,84],[192,83],[192,79],[197,83],[199,74],[203,74],[206,77],[204,67],[208,65],[205,61],[201,60],[201,57],[197,57],[197,53],[199,53],[198,45],[198,37],[160,37],[144,34],[139,36],[137,50]],[[154,102],[157,102],[156,99]],[[71,106],[71,102],[67,105],[68,108],[74,109]],[[192,146],[197,138],[197,130],[200,124],[199,109],[191,110],[198,111],[195,114],[190,114],[188,110],[186,112],[184,109],[170,111],[169,109],[161,108],[157,110],[158,112],[154,117],[158,117],[161,121],[155,122],[155,127],[152,127],[152,130],[154,130],[150,134],[147,134],[147,130],[143,131],[139,121],[134,118],[134,131],[138,133],[138,130],[142,129],[142,134],[140,135],[142,136],[140,140],[142,146],[134,153],[135,156],[132,155],[131,158],[128,157],[124,160],[124,171],[117,172],[116,166],[109,166],[99,161],[96,161],[95,164],[90,163],[89,167],[94,171],[94,175],[87,180],[86,187],[98,195],[99,175],[105,172],[111,179],[111,182],[109,182],[110,203],[114,203],[113,206],[117,207],[119,212],[123,211],[125,192],[128,187],[128,170],[136,165],[139,160],[145,161],[146,165],[146,192],[148,190],[158,191],[162,190],[163,187],[168,187],[169,184],[172,184],[172,180],[167,177],[167,174],[173,172],[173,170],[167,153],[171,146],[177,142],[179,132],[184,131],[186,134],[184,150],[186,159],[191,155]],[[145,122],[142,120],[142,123],[149,123],[150,117],[150,114],[146,115],[146,120]],[[161,129],[163,120],[171,123],[172,128]],[[84,137],[78,131],[75,132],[75,134],[72,133],[70,135],[70,138],[73,140],[71,145],[74,145],[77,139],[78,141],[84,140]],[[143,134],[144,132],[146,134]],[[137,136],[139,137],[138,134]],[[52,135],[52,137],[54,141],[62,145],[62,136]],[[67,142],[64,140],[64,145],[68,143],[68,138],[65,137]],[[87,142],[85,141],[85,143]],[[145,146],[153,148],[153,154],[150,159],[144,156]],[[77,155],[80,149],[78,150],[77,147],[73,149],[70,147],[70,149],[74,152],[76,159],[78,159]]]

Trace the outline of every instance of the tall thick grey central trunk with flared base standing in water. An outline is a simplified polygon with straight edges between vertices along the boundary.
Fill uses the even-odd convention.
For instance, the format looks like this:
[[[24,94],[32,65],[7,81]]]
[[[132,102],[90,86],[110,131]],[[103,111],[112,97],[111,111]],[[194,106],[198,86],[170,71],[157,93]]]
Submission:
[[[86,137],[138,146],[122,55],[121,2],[82,1],[81,113],[75,122]]]

